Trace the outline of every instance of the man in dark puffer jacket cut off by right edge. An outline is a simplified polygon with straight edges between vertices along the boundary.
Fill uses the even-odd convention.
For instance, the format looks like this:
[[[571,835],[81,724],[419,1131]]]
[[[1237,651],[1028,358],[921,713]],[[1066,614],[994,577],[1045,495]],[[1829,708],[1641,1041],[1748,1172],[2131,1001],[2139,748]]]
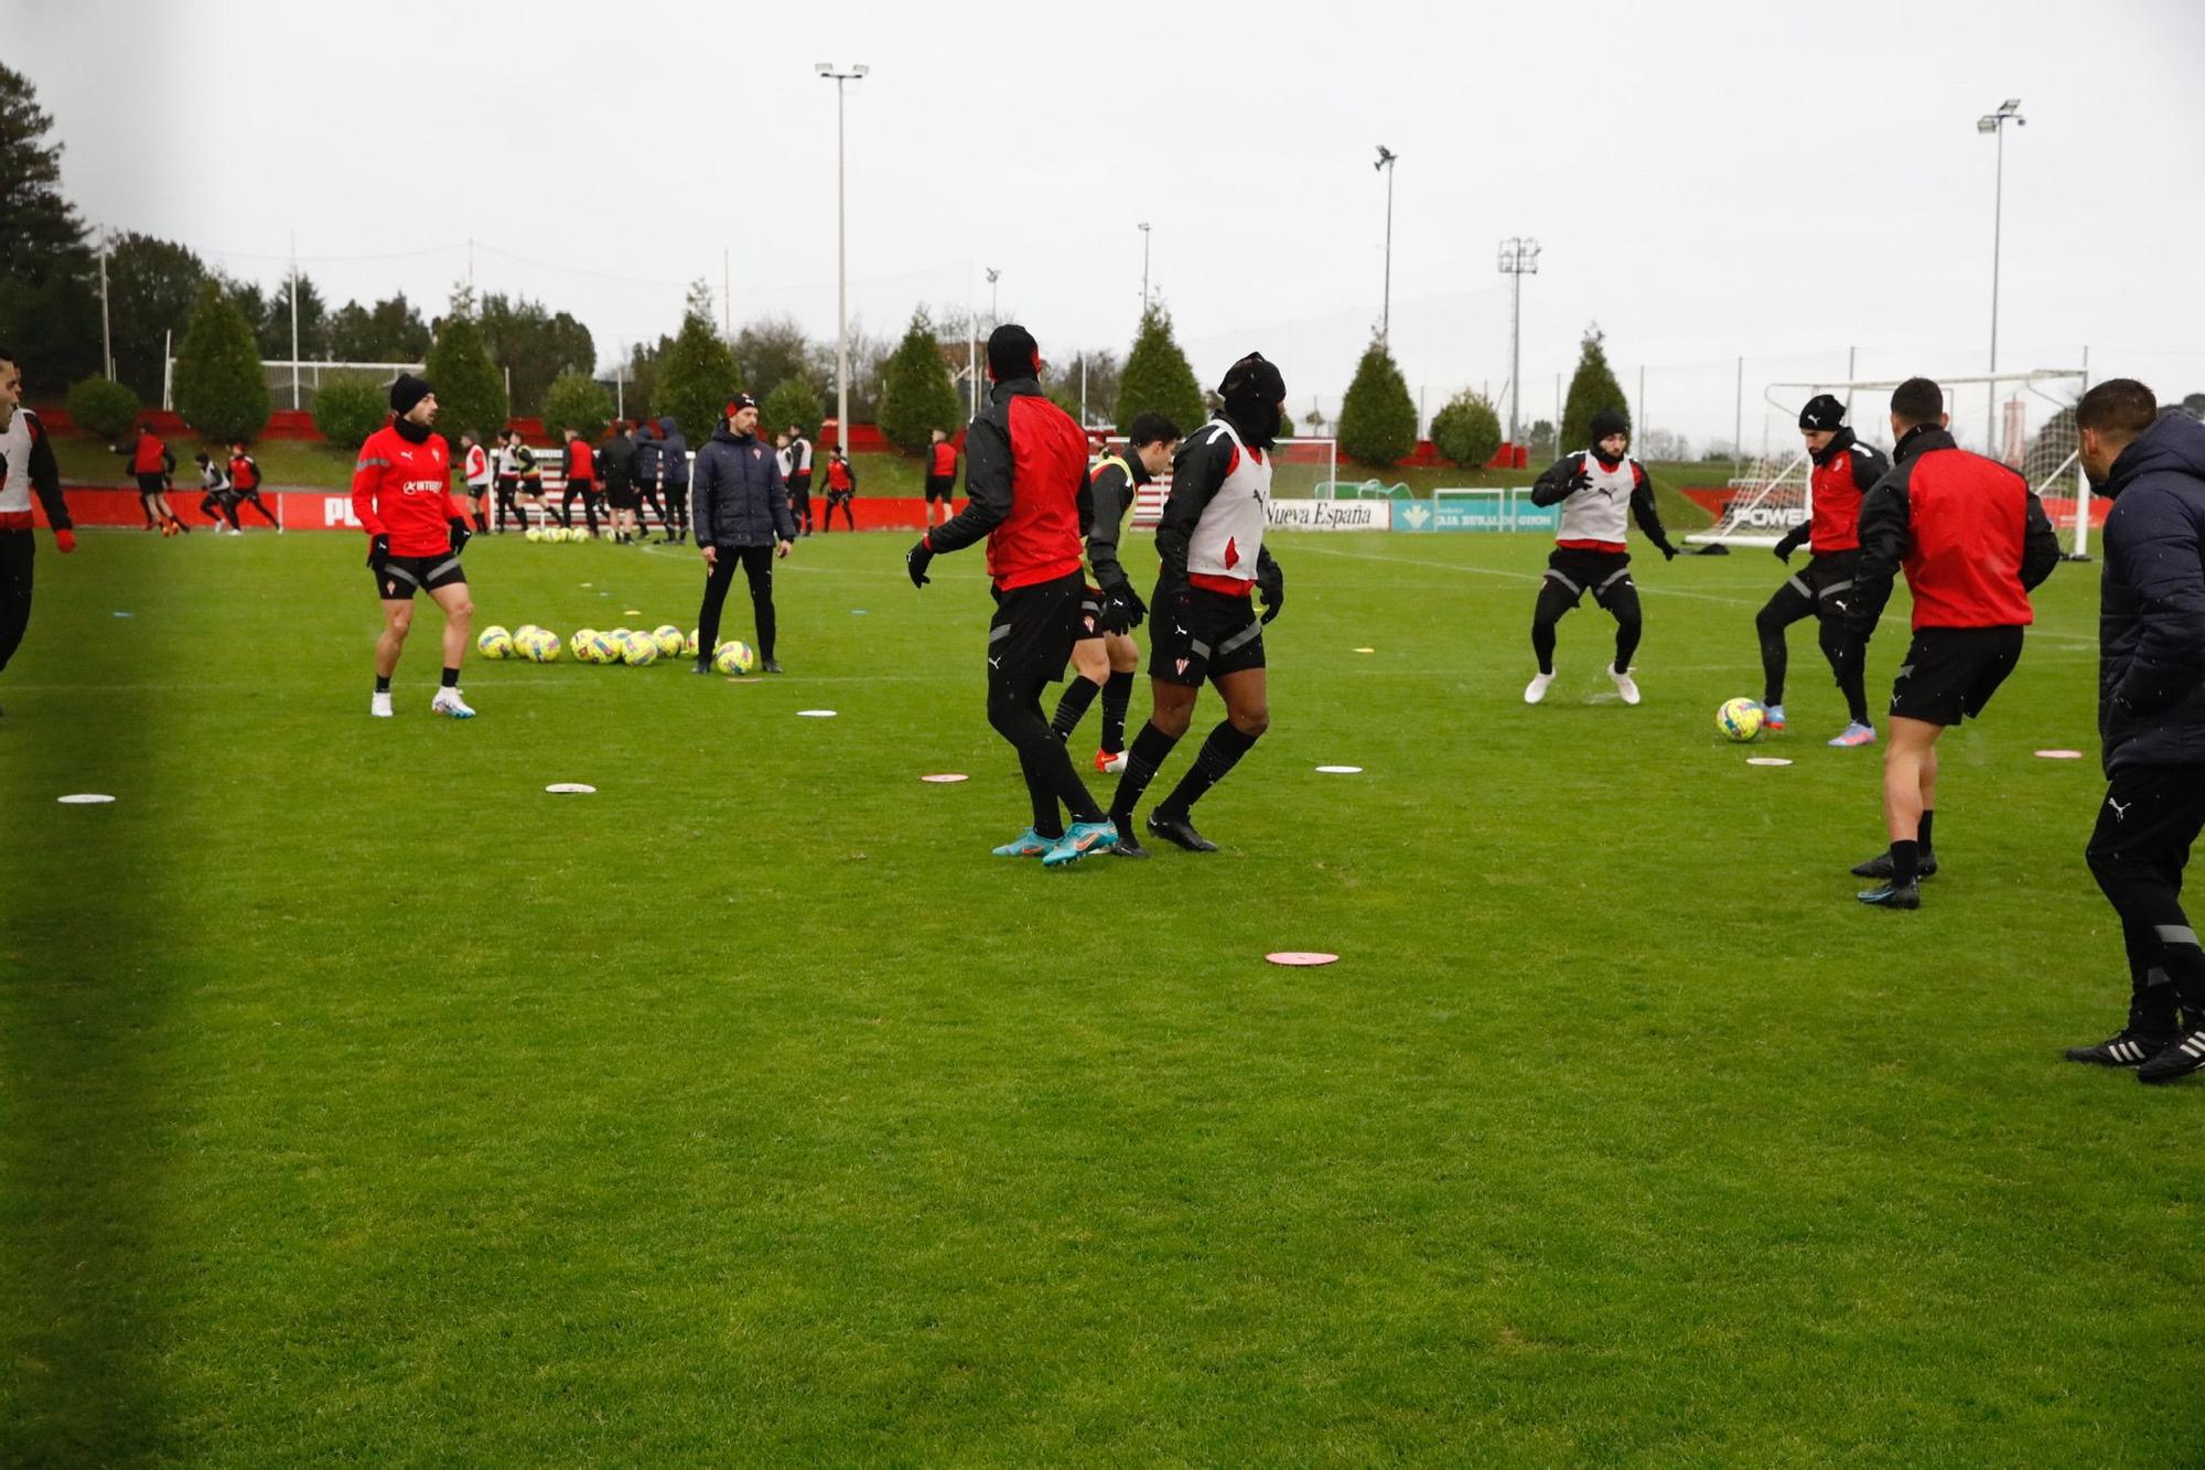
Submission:
[[[2205,828],[2205,426],[2115,377],[2084,393],[2075,428],[2112,499],[2097,618],[2110,788],[2084,856],[2121,916],[2130,1002],[2121,1031],[2066,1055],[2174,1082],[2205,1068],[2205,949],[2181,905]]]

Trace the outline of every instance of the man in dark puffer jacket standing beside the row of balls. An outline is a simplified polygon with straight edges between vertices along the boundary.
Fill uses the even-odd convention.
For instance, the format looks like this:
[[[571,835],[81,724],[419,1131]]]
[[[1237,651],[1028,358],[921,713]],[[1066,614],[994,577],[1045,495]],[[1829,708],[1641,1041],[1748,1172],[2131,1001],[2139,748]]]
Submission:
[[[759,400],[736,393],[721,424],[690,466],[690,519],[703,554],[703,607],[697,609],[697,673],[712,671],[719,647],[719,609],[734,585],[734,569],[750,576],[750,607],[759,616],[759,662],[774,662],[774,554],[796,545],[789,492],[774,450],[759,439]]]

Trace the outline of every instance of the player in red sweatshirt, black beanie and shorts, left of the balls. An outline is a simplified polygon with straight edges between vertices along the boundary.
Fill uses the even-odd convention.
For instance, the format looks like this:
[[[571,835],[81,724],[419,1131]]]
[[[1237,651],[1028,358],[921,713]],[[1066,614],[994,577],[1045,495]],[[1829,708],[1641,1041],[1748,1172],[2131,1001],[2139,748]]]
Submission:
[[[384,603],[384,631],[375,640],[375,700],[368,713],[390,717],[390,675],[397,673],[412,629],[417,592],[443,609],[443,682],[430,711],[472,720],[459,695],[459,664],[467,656],[467,574],[459,552],[467,545],[465,505],[452,497],[452,450],[437,422],[437,391],[412,373],[390,384],[390,422],[368,435],[353,468],[353,516],[368,532],[368,572]]]

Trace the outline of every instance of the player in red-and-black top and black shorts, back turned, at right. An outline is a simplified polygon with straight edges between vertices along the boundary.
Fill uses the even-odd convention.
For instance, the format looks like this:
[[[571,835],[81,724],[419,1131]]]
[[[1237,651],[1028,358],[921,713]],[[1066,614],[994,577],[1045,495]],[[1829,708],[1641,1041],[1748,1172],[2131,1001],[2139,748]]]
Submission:
[[[1865,658],[1876,618],[1905,565],[1914,640],[1892,680],[1892,739],[1883,748],[1883,819],[1892,845],[1854,865],[1883,878],[1861,903],[1918,909],[1936,872],[1936,737],[1998,693],[2022,658],[2029,589],[2059,565],[2044,505],[2029,481],[1954,444],[1945,391],[1910,377],[1892,393],[1892,468],[1861,501],[1861,569],[1846,611],[1848,653]]]

